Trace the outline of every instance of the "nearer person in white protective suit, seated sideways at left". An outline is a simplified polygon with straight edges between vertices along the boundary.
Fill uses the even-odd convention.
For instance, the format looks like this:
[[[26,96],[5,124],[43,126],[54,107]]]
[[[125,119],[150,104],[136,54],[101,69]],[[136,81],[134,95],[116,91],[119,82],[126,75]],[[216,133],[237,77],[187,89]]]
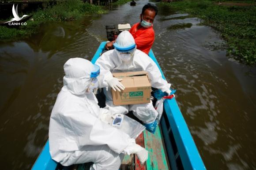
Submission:
[[[105,78],[98,76],[99,67],[74,58],[64,64],[64,71],[64,86],[50,117],[52,159],[64,166],[93,162],[90,170],[118,170],[124,154],[135,153],[141,163],[145,162],[148,152],[144,148],[104,122],[113,114],[98,106],[92,92],[98,84],[107,85]]]

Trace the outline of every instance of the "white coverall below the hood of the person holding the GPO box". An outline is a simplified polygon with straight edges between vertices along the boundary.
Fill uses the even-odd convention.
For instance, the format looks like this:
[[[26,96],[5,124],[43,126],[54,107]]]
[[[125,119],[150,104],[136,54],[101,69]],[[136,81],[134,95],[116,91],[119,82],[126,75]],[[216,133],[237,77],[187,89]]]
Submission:
[[[132,35],[131,37],[128,36],[128,38],[133,39]],[[128,41],[131,42],[132,40]],[[147,71],[152,87],[163,92],[168,91],[170,88],[170,84],[162,78],[156,63],[147,54],[138,49],[135,50],[133,57],[128,62],[122,61],[118,57],[116,49],[113,49],[103,53],[95,64],[100,67],[101,74],[105,75],[106,79],[113,78],[112,74],[109,74],[110,72]],[[111,88],[104,88],[104,93],[106,96],[105,108],[109,109],[112,113],[127,114],[128,111],[133,111],[133,114],[143,123],[154,122],[158,116],[158,112],[154,109],[152,103],[115,106],[113,104]]]

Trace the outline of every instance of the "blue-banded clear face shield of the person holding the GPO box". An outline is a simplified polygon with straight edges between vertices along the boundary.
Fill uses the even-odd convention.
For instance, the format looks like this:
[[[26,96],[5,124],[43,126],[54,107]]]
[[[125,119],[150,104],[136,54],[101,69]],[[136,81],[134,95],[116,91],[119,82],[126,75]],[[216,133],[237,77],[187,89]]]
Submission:
[[[124,62],[128,62],[132,59],[136,50],[136,44],[129,45],[127,47],[121,47],[117,43],[113,44],[117,52],[117,56]]]

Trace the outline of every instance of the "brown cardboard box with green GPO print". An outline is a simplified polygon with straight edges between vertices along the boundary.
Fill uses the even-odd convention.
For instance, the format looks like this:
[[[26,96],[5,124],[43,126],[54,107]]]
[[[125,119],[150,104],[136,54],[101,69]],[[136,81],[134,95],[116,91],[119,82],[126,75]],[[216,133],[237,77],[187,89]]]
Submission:
[[[121,92],[112,89],[114,105],[150,103],[151,83],[147,71],[113,73],[113,77],[122,78],[125,87]]]

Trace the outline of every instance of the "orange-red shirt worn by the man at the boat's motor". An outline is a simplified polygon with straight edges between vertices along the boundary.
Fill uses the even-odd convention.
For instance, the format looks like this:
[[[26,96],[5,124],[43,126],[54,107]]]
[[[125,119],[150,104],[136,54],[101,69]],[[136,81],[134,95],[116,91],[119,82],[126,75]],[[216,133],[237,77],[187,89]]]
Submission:
[[[154,30],[153,26],[149,28],[141,27],[137,30],[137,26],[140,22],[134,24],[129,32],[132,34],[137,45],[137,49],[145,52],[147,55],[154,43]]]

